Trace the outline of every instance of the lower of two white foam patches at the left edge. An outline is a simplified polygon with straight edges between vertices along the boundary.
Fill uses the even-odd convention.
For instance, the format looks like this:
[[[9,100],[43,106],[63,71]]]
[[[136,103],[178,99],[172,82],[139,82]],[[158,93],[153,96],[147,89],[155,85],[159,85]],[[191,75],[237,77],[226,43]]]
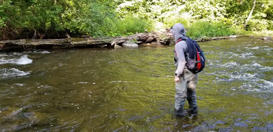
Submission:
[[[17,76],[25,76],[30,74],[29,72],[23,72],[15,68],[4,68],[0,69],[0,79],[10,78],[10,77],[17,77]]]

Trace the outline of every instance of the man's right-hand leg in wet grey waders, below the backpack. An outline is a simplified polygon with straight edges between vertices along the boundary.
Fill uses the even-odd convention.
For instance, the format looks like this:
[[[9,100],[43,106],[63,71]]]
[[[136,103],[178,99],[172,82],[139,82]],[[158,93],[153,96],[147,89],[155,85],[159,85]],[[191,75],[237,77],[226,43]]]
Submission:
[[[196,101],[196,86],[197,86],[198,75],[195,74],[193,79],[187,85],[187,100],[189,102],[190,108],[197,107]]]

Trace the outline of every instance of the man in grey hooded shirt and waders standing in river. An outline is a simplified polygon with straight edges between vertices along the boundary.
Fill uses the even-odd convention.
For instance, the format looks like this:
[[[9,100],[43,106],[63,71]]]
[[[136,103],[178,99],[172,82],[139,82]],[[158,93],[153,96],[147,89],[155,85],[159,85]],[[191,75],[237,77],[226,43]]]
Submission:
[[[172,37],[175,39],[175,66],[177,67],[175,71],[175,88],[176,94],[175,98],[175,105],[174,109],[177,112],[182,112],[184,108],[184,103],[187,99],[189,102],[191,111],[197,111],[197,101],[196,101],[196,85],[198,75],[193,74],[187,69],[185,66],[186,59],[185,56],[187,55],[187,43],[185,40],[179,40],[181,38],[187,38],[184,26],[180,23],[175,24],[171,27],[170,30]]]

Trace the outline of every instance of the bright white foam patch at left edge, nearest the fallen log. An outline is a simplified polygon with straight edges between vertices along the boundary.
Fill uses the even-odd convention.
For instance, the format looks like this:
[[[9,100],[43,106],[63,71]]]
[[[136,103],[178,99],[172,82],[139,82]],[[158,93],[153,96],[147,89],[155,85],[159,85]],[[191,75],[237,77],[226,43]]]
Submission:
[[[20,59],[5,59],[5,58],[0,59],[0,64],[7,64],[7,63],[25,65],[25,64],[32,63],[32,60],[29,59],[27,55],[21,56]]]

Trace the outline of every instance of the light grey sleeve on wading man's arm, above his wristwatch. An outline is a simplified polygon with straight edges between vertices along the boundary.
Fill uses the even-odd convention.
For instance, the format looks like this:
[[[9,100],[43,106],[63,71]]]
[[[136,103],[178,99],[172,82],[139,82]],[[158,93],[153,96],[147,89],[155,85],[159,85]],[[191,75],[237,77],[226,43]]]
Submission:
[[[178,62],[178,66],[175,73],[179,76],[181,76],[184,71],[184,66],[185,66],[184,51],[186,51],[186,48],[187,48],[186,45],[187,43],[185,41],[180,41],[175,45],[175,52],[177,54],[177,62]]]

